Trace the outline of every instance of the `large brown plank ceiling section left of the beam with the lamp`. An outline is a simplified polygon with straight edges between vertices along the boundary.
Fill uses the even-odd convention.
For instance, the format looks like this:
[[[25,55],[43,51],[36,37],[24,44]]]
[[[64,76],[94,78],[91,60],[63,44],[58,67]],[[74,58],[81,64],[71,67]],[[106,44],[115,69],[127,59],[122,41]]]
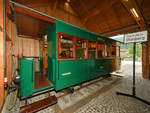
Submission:
[[[118,28],[136,24],[120,0],[89,0],[88,2],[85,0],[79,0],[78,2],[71,0],[71,6],[81,18],[82,23],[86,25],[89,30],[95,23],[96,26],[99,26],[95,26],[95,30],[92,28],[92,31],[98,31],[97,33],[103,34],[103,32],[106,31],[111,32]],[[99,28],[99,30],[97,30],[97,28]]]

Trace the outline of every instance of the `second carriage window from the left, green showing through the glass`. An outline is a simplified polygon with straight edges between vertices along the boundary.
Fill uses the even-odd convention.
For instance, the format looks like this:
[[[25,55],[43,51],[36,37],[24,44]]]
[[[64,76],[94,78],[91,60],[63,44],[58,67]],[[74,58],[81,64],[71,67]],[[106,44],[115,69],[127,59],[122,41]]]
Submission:
[[[77,39],[76,58],[84,59],[86,57],[86,41],[84,39]]]

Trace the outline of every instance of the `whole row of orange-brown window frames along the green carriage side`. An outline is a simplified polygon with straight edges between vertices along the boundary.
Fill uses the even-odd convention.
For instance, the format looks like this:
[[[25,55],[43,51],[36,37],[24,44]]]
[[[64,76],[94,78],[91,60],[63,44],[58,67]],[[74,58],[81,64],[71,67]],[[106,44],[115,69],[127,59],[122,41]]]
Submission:
[[[64,57],[60,57],[60,37],[63,36],[63,37],[67,37],[67,38],[70,38],[72,40],[72,58],[64,58]],[[84,53],[84,58],[82,59],[79,59],[77,58],[77,41],[78,39],[81,39],[81,40],[85,40],[85,44],[86,44],[86,47],[85,47],[85,53]],[[90,58],[90,51],[89,51],[89,44],[90,42],[95,42],[95,58]],[[98,55],[98,44],[103,44],[103,51],[102,51],[102,57],[99,57]],[[116,48],[116,53],[115,55],[112,55],[112,47],[115,46]],[[112,44],[109,44],[109,43],[103,43],[103,42],[99,42],[99,41],[96,41],[96,40],[89,40],[89,39],[86,39],[86,38],[81,38],[81,37],[76,37],[76,36],[73,36],[73,35],[69,35],[69,34],[65,34],[65,33],[61,33],[61,32],[58,32],[57,33],[57,59],[60,60],[60,61],[70,61],[70,60],[94,60],[94,59],[103,59],[103,58],[110,58],[110,57],[120,57],[120,54],[119,56],[117,56],[117,47],[119,48],[120,46],[117,46],[117,45],[112,45]],[[119,49],[120,50],[120,49]]]

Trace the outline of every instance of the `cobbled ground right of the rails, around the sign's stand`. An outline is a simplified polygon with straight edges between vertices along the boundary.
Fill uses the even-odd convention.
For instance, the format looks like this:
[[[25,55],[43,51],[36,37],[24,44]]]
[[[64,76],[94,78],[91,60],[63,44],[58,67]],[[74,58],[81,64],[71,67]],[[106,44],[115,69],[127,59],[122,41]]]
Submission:
[[[137,96],[150,101],[150,82],[142,78],[141,62],[136,62],[136,93]],[[150,113],[150,106],[134,98],[117,96],[116,91],[132,92],[132,61],[123,61],[120,72],[125,73],[120,84],[100,94],[81,107],[76,113]]]

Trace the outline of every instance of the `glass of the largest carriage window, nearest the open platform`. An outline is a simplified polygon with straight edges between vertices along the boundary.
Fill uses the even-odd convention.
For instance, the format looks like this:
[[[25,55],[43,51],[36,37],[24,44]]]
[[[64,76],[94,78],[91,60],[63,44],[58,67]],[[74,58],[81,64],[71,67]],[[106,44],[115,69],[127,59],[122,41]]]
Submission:
[[[73,58],[73,38],[60,36],[59,40],[59,58]]]

